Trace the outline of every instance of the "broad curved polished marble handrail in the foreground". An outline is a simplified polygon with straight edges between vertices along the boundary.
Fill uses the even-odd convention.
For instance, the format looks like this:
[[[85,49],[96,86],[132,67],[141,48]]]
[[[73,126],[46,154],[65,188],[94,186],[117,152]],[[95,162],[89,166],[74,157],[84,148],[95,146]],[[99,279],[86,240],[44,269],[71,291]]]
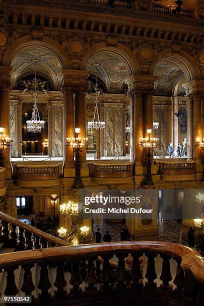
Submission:
[[[53,247],[19,251],[0,255],[0,268],[28,264],[31,262],[47,262],[49,260],[66,260],[70,258],[96,257],[106,254],[150,252],[156,254],[167,254],[181,259],[180,266],[184,271],[189,271],[194,278],[204,283],[204,258],[190,247],[158,241],[131,241],[112,242],[100,244],[85,244],[69,247]]]

